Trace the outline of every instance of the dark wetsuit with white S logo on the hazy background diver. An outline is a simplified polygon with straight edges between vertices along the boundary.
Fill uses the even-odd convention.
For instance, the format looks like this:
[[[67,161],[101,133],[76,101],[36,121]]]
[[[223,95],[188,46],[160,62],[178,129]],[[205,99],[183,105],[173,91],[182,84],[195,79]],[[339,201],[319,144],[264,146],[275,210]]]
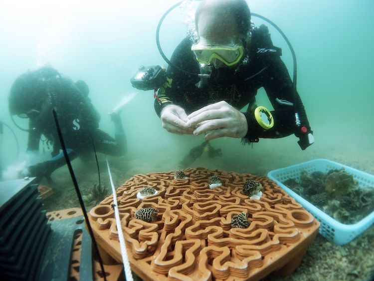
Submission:
[[[112,118],[115,125],[115,138],[100,130],[100,115],[93,107],[88,96],[68,78],[57,78],[48,87],[51,99],[46,113],[30,118],[29,127],[34,128],[28,136],[28,151],[39,149],[40,139],[53,145],[52,159],[31,166],[31,176],[49,175],[55,169],[66,164],[57,135],[52,107],[56,109],[62,136],[67,148],[69,159],[78,155],[97,152],[121,156],[126,153],[126,136],[119,116]],[[41,136],[44,137],[41,137]],[[92,139],[91,139],[92,137]],[[44,170],[44,171],[43,171]]]

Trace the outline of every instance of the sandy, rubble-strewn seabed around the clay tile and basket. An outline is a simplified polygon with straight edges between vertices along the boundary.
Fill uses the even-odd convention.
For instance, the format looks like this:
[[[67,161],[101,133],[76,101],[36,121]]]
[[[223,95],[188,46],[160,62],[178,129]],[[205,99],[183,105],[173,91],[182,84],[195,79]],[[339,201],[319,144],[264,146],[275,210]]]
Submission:
[[[198,158],[190,167],[206,167],[209,169],[220,169],[234,171],[237,173],[251,173],[264,176],[269,171],[281,167],[287,167],[304,161],[325,158],[345,164],[370,174],[374,174],[374,158],[371,154],[359,154],[357,151],[339,153],[339,149],[330,151],[312,150],[302,156],[293,155],[292,158],[273,155],[272,158],[263,157],[261,161],[251,162],[244,165],[240,161],[232,161],[235,155],[216,157],[209,159],[205,154]],[[139,155],[138,155],[139,156]],[[240,158],[240,157],[239,157]],[[99,157],[100,159],[100,157]],[[181,160],[181,159],[178,159]],[[109,163],[115,187],[121,186],[126,180],[135,174],[146,174],[151,172],[164,172],[178,170],[178,162],[170,156],[159,157],[157,160],[149,161],[148,158],[137,157],[137,155],[126,155],[121,158],[111,157]],[[227,164],[229,163],[229,164]],[[105,161],[99,162],[101,182],[110,192],[109,177]],[[76,160],[73,168],[79,183],[82,195],[88,195],[92,186],[98,183],[96,163],[83,163]],[[52,174],[53,182],[49,185],[54,194],[44,200],[47,211],[55,211],[72,207],[79,207],[77,196],[66,168],[60,168]],[[97,201],[98,203],[99,201]],[[95,202],[85,202],[86,209],[90,210],[96,205]],[[351,281],[374,279],[374,226],[370,227],[358,238],[344,246],[335,245],[327,241],[320,234],[308,247],[307,252],[293,275],[280,278],[268,276],[264,281]]]

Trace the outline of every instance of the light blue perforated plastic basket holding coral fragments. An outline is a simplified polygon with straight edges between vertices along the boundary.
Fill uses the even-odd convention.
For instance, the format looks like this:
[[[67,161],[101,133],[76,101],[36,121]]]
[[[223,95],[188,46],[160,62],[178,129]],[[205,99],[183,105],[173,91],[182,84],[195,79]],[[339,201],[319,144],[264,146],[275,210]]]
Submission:
[[[293,192],[283,183],[288,179],[300,180],[302,171],[312,173],[321,171],[327,173],[331,169],[341,169],[353,175],[354,179],[359,183],[360,188],[373,187],[374,176],[354,168],[339,164],[326,159],[316,159],[290,167],[273,170],[268,173],[268,177],[281,186],[290,196],[296,199],[303,207],[308,210],[321,223],[320,233],[329,241],[338,245],[344,245],[355,239],[365,230],[367,230],[374,223],[374,212],[366,216],[364,219],[353,225],[342,224],[316,206],[302,198],[300,195]]]

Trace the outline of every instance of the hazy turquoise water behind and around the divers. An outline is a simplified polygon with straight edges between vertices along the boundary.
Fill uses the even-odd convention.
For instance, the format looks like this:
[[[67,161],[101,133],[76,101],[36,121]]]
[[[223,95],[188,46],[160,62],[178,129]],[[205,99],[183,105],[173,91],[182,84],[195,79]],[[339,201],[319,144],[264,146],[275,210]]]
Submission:
[[[155,33],[161,16],[177,2],[1,1],[0,120],[12,128],[19,143],[17,157],[14,137],[4,127],[0,147],[2,169],[25,158],[27,133],[12,124],[7,105],[10,87],[18,75],[50,65],[74,81],[86,81],[89,97],[101,114],[100,128],[112,134],[108,112],[123,95],[139,91],[130,83],[138,67],[167,66],[158,52]],[[196,2],[181,5],[164,20],[160,41],[169,58],[186,36]],[[361,164],[360,159],[369,161],[374,156],[374,1],[248,3],[252,12],[275,22],[295,49],[297,88],[314,131],[315,144],[302,151],[294,135],[261,139],[253,147],[241,145],[238,139],[222,138],[211,142],[222,150],[219,160],[202,155],[193,165],[265,175],[273,169],[327,158],[364,171],[372,169]],[[292,56],[283,38],[266,22],[252,19],[257,26],[269,26],[273,43],[282,47],[283,61],[292,73]],[[257,100],[271,108],[263,90],[258,92]],[[121,113],[128,154],[115,163],[123,164],[126,171],[177,169],[189,149],[203,141],[202,136],[174,135],[164,130],[153,102],[152,91],[139,91]],[[27,126],[27,120],[16,117],[16,121]],[[48,153],[44,152],[46,158]]]

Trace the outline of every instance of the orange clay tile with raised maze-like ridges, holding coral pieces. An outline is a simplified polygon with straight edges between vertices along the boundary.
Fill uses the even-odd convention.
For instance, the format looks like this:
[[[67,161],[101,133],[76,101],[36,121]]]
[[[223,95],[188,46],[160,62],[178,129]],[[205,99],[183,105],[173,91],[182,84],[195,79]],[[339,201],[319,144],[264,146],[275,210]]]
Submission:
[[[319,223],[275,182],[205,168],[184,172],[187,179],[181,180],[175,172],[135,175],[117,189],[135,273],[155,281],[258,280],[273,271],[289,275],[296,269]],[[218,176],[222,185],[210,189],[211,176]],[[247,180],[261,183],[259,200],[241,193]],[[146,187],[157,193],[139,199],[138,192]],[[112,204],[113,197],[107,197],[89,219],[100,248],[121,262]],[[157,210],[155,221],[136,219],[142,208]],[[242,212],[249,226],[231,228],[232,218]]]

